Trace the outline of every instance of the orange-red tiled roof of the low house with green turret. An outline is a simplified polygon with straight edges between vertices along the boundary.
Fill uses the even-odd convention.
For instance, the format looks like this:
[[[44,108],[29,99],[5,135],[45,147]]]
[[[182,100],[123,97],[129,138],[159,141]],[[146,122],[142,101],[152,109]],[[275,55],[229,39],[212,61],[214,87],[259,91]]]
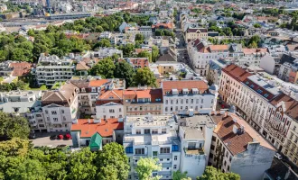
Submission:
[[[96,132],[102,137],[113,136],[114,130],[123,130],[123,122],[118,122],[117,119],[103,119],[99,123],[94,123],[93,119],[79,119],[78,123],[73,123],[71,126],[71,131],[80,131],[80,138],[89,138]]]

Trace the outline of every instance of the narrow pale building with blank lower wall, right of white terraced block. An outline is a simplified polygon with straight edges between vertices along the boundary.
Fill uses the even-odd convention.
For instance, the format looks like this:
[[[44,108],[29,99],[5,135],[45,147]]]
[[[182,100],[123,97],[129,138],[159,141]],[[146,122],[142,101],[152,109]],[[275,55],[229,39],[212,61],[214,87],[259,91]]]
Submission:
[[[214,121],[210,115],[182,116],[179,119],[179,138],[181,139],[180,171],[187,172],[187,176],[196,179],[204,173],[210,157],[210,146]]]

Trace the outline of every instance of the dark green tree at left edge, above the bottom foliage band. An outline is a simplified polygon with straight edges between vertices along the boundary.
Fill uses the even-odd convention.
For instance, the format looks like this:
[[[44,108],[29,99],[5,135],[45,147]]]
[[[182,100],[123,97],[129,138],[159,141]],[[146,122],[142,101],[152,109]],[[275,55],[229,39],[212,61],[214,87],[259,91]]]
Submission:
[[[22,116],[12,116],[10,113],[0,112],[0,136],[5,139],[28,139],[28,121]]]

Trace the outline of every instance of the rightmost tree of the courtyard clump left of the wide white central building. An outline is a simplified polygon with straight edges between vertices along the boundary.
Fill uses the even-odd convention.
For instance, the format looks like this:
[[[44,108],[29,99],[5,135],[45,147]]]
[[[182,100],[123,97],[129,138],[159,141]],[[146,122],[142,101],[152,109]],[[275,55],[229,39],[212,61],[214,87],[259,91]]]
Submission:
[[[156,86],[156,78],[149,67],[138,68],[134,76],[135,85]]]

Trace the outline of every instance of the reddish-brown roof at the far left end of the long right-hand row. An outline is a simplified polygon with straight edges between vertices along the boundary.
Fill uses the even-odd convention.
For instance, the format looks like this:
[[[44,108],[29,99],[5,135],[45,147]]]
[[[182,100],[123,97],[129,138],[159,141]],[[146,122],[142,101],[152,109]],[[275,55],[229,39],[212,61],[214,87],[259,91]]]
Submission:
[[[228,67],[224,67],[222,71],[240,82],[246,80],[247,76],[252,76],[252,74],[248,73],[246,69],[238,67],[234,64],[228,65]]]

